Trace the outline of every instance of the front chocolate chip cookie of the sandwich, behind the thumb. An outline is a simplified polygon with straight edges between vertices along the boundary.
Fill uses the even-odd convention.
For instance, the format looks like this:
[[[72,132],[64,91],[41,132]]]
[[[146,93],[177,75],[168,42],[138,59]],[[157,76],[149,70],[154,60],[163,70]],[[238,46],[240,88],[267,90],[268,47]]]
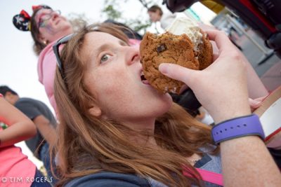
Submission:
[[[140,46],[143,74],[150,85],[159,92],[174,92],[179,94],[181,81],[164,76],[158,70],[161,63],[179,64],[189,69],[200,69],[200,64],[193,52],[192,41],[186,34],[177,36],[166,32],[143,36]]]

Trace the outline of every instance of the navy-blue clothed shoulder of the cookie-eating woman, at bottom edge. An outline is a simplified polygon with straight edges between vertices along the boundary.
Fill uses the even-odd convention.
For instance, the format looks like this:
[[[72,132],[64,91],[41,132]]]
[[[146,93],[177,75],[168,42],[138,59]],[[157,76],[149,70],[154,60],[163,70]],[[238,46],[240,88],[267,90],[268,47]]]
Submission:
[[[100,172],[96,174],[89,174],[87,176],[82,176],[77,179],[73,179],[69,183],[66,183],[65,187],[105,187],[105,186],[115,186],[115,187],[133,187],[133,186],[143,186],[148,187],[150,183],[147,179],[141,178],[134,174],[119,174],[113,172]]]

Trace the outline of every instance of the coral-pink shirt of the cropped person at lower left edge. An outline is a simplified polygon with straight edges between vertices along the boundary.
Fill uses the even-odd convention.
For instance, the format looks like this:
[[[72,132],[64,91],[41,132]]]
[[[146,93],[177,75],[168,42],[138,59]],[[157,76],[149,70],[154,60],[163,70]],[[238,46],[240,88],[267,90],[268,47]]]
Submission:
[[[0,97],[2,97],[1,94]],[[2,131],[1,127],[0,131]],[[22,154],[19,147],[0,148],[0,186],[29,187],[34,179],[35,171],[36,166]],[[6,179],[5,183],[3,179]]]

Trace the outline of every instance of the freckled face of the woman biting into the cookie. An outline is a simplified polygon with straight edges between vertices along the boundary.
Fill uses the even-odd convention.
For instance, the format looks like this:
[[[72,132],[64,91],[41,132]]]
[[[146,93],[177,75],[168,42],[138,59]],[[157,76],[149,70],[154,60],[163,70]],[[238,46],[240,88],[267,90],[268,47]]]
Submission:
[[[171,97],[141,80],[139,50],[103,32],[86,34],[84,82],[97,100],[102,116],[122,122],[148,120],[171,106]]]

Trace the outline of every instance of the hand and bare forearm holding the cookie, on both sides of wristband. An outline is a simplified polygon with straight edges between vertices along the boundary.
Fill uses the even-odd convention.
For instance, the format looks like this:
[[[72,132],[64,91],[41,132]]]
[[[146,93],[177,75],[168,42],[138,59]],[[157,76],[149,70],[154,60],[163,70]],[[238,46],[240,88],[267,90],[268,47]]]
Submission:
[[[195,71],[160,64],[159,71],[186,83],[216,124],[249,115],[245,58],[223,32],[207,34],[219,49],[218,57],[207,69]],[[280,170],[259,137],[229,139],[220,145],[224,186],[280,186]]]

